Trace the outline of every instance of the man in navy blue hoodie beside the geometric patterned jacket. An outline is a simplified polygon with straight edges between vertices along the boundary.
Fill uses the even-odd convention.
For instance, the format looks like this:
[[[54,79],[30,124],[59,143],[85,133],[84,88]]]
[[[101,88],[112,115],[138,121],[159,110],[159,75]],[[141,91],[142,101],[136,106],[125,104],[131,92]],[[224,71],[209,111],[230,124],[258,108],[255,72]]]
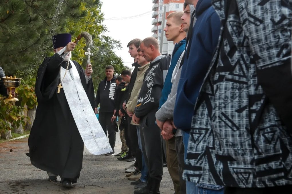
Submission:
[[[173,122],[175,127],[182,129],[186,158],[194,106],[218,43],[220,20],[211,5],[211,0],[185,0],[185,3],[194,5],[196,10],[191,19],[187,36],[188,45],[183,66],[181,67]],[[193,26],[195,18],[196,22]],[[205,190],[204,193],[223,193],[223,186],[196,185],[191,178],[184,177],[186,179],[187,193],[195,193],[197,190],[199,192]]]

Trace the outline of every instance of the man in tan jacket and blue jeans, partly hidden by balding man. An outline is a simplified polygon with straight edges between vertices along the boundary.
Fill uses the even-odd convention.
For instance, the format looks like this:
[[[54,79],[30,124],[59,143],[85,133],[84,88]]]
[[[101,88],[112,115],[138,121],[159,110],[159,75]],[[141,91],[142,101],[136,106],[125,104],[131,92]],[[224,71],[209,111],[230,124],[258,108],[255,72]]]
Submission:
[[[148,70],[150,62],[148,62],[144,57],[141,56],[141,50],[138,48],[138,55],[136,56],[136,60],[138,61],[138,64],[140,67],[138,67],[137,77],[133,86],[133,90],[131,92],[131,97],[126,104],[126,111],[129,117],[132,117],[133,112],[135,110],[135,107],[137,105],[137,96],[139,95],[140,89],[142,87],[142,83],[144,80],[145,72]],[[137,126],[137,134],[138,134],[138,144],[139,148],[142,151],[141,147],[141,137],[140,137],[140,131],[139,131],[139,124],[135,124],[133,121],[131,121],[131,124]],[[148,175],[148,167],[145,162],[144,154],[142,152],[142,169],[141,169],[141,177],[137,181],[131,182],[132,185],[135,185],[135,189],[142,189],[147,185],[147,175]]]

